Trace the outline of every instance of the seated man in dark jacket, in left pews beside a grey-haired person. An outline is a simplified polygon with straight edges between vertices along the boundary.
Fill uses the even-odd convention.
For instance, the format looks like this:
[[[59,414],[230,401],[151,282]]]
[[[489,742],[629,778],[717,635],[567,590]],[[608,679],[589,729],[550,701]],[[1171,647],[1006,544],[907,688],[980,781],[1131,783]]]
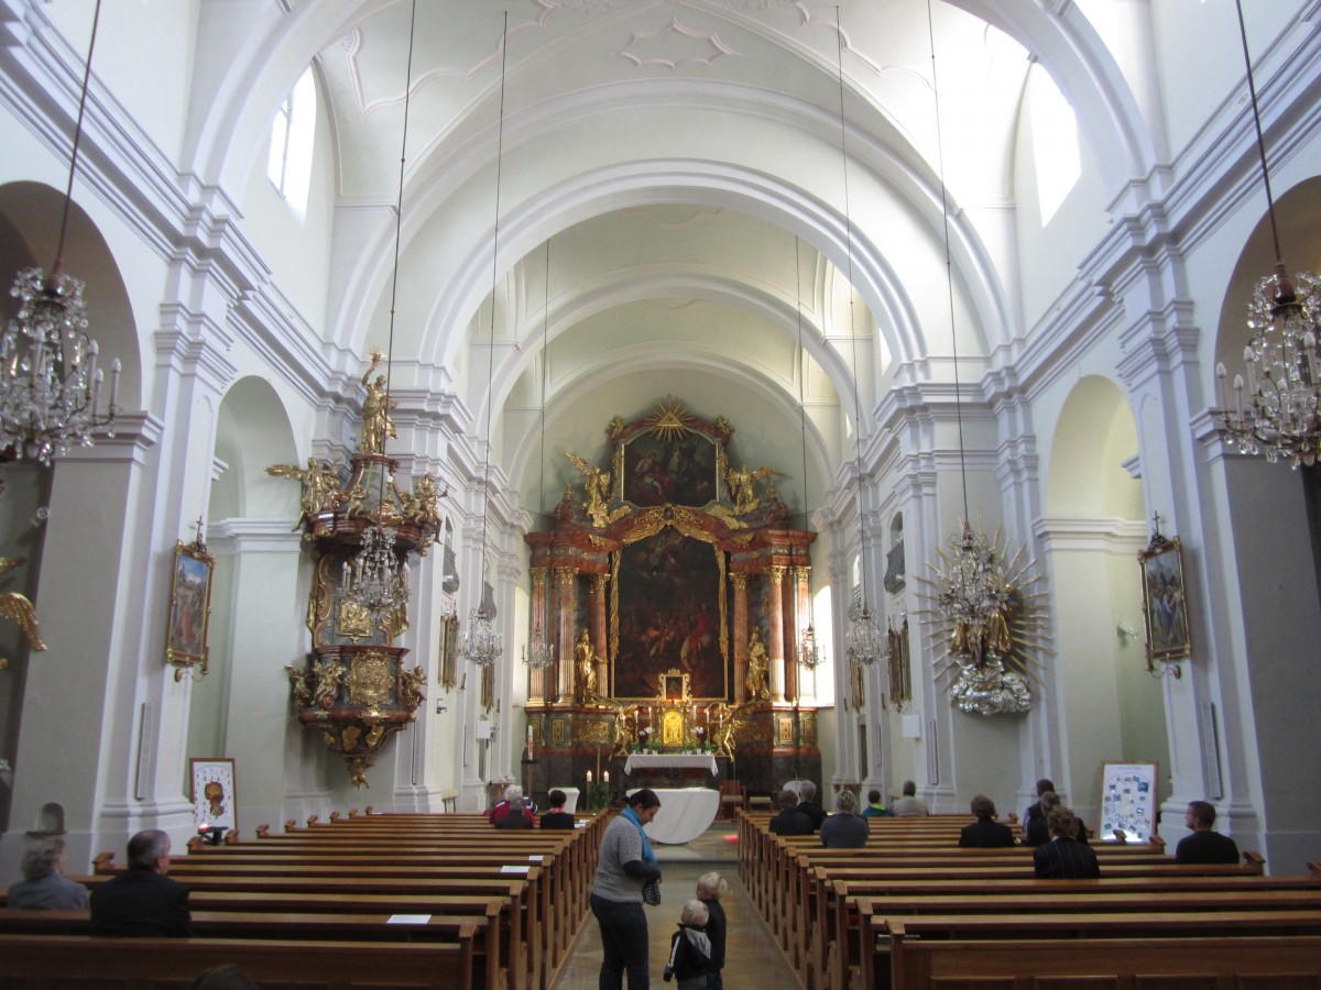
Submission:
[[[168,873],[169,836],[148,829],[128,840],[128,870],[91,892],[92,935],[192,939],[188,887]]]

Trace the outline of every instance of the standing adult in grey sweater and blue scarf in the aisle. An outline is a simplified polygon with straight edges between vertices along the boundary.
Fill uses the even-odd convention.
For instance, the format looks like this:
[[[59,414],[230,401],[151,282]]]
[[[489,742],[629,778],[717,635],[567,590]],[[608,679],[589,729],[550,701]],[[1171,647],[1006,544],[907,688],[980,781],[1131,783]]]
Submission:
[[[629,974],[629,990],[649,990],[650,958],[647,916],[642,909],[642,887],[660,882],[660,867],[642,826],[657,817],[660,799],[651,788],[629,795],[629,807],[610,822],[601,840],[601,857],[592,883],[592,913],[601,925],[600,990],[622,990]]]

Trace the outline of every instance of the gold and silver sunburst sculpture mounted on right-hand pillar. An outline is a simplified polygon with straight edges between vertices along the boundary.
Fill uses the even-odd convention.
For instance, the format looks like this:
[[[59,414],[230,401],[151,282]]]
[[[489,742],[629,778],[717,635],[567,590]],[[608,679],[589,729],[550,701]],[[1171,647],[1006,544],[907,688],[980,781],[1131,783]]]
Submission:
[[[1032,708],[1033,668],[1049,656],[1045,591],[1030,589],[1041,581],[1036,561],[1021,562],[1022,550],[1008,564],[1008,540],[1000,531],[985,535],[964,521],[950,537],[950,552],[937,550],[939,564],[929,564],[935,577],[918,579],[931,589],[919,594],[934,603],[922,614],[937,645],[937,680],[946,678],[950,701],[960,711],[980,715],[1018,714]]]

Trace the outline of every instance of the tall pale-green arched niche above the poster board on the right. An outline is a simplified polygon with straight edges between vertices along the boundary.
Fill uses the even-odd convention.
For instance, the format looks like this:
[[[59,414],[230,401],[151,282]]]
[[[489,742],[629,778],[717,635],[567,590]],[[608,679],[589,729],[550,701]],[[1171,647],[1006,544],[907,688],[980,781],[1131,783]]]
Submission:
[[[1095,818],[1106,762],[1169,768],[1161,681],[1147,672],[1137,553],[1147,543],[1137,424],[1124,393],[1078,381],[1059,413],[1046,479],[1053,668],[1069,738],[1069,804]],[[1168,784],[1161,774],[1161,797]],[[1090,817],[1089,817],[1090,816]]]

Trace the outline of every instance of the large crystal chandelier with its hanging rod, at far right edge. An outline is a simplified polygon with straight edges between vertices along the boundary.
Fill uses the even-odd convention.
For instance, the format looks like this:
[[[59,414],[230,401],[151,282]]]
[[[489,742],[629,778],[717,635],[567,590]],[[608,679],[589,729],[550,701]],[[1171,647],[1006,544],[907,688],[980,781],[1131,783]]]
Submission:
[[[1262,158],[1262,181],[1266,186],[1267,215],[1271,219],[1271,238],[1276,259],[1280,253],[1280,234],[1275,223],[1275,201],[1271,197],[1271,174],[1266,166],[1266,140],[1262,136],[1262,116],[1256,104],[1256,84],[1252,82],[1252,61],[1248,57],[1247,30],[1243,25],[1243,5],[1238,7],[1239,37],[1243,42],[1243,62],[1247,66],[1247,87],[1252,98],[1252,123],[1256,127],[1256,147]],[[1234,376],[1234,408],[1230,408],[1226,389],[1229,372],[1225,364],[1215,366],[1217,400],[1219,409],[1211,414],[1219,422],[1225,441],[1244,454],[1266,454],[1275,463],[1289,461],[1309,467],[1321,454],[1321,366],[1317,363],[1318,319],[1321,319],[1321,280],[1316,275],[1300,272],[1291,280],[1284,261],[1275,263],[1275,273],[1262,279],[1248,302],[1247,326],[1252,334],[1243,348],[1247,364],[1247,403],[1242,375]]]

